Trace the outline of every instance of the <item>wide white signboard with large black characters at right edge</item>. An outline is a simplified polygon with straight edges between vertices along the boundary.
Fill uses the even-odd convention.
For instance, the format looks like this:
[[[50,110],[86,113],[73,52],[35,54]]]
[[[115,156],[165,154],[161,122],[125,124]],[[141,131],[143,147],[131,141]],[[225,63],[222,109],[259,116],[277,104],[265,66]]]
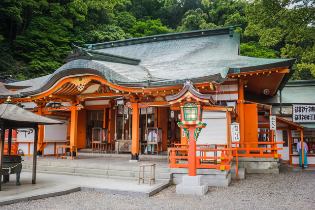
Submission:
[[[315,104],[293,104],[293,122],[315,122]]]

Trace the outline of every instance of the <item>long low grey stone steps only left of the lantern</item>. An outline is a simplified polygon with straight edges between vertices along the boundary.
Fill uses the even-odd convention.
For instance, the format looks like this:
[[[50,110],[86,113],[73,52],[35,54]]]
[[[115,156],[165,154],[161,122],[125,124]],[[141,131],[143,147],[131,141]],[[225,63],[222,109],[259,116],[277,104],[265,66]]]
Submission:
[[[167,169],[167,168],[166,168]],[[70,175],[81,177],[96,177],[115,180],[137,180],[139,168],[131,166],[110,166],[94,164],[71,164],[59,162],[37,161],[37,173]],[[32,161],[24,161],[22,172],[32,172]],[[145,169],[145,176],[149,177],[149,168]],[[173,184],[173,173],[164,168],[156,168],[156,181]]]

